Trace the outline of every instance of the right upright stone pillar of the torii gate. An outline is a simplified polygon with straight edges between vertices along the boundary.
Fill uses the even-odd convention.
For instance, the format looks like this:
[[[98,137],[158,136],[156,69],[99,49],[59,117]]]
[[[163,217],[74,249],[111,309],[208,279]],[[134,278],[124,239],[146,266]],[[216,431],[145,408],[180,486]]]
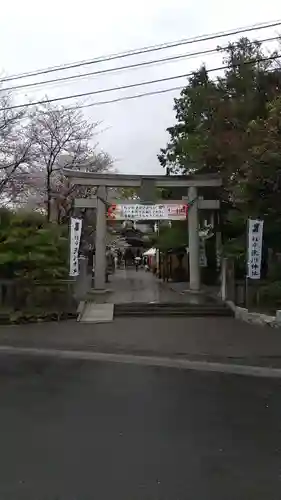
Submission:
[[[189,247],[189,287],[191,291],[200,290],[199,268],[199,217],[197,188],[188,188],[188,247]]]

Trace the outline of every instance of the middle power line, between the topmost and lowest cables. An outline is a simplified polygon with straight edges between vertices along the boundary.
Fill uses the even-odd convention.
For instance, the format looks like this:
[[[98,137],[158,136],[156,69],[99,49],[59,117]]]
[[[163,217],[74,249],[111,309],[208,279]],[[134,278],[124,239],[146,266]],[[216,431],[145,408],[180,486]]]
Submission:
[[[280,38],[279,36],[275,36],[275,37],[271,37],[271,38],[264,38],[262,40],[257,40],[257,42],[259,42],[259,43],[272,42],[274,40],[278,40],[279,38]],[[166,62],[176,61],[176,60],[180,60],[180,59],[188,59],[190,57],[197,57],[197,56],[201,56],[201,55],[209,55],[209,54],[213,54],[215,52],[220,52],[221,50],[224,50],[225,48],[226,47],[222,47],[222,48],[218,48],[217,47],[217,48],[214,48],[214,49],[206,49],[206,50],[201,50],[201,51],[197,51],[197,52],[189,52],[187,54],[179,54],[179,55],[176,55],[176,56],[170,56],[170,57],[164,57],[164,58],[160,58],[160,59],[154,59],[152,61],[143,61],[143,62],[139,62],[139,63],[136,63],[136,64],[129,64],[129,65],[125,65],[125,66],[119,66],[117,68],[107,68],[107,69],[103,69],[103,70],[99,70],[99,71],[94,71],[94,72],[89,72],[89,73],[82,73],[82,74],[65,76],[65,77],[62,77],[62,78],[53,78],[51,80],[41,80],[39,82],[25,83],[25,84],[22,84],[22,85],[14,85],[12,87],[5,87],[5,88],[0,89],[0,90],[2,92],[8,92],[8,91],[18,90],[18,89],[23,89],[23,88],[30,88],[30,87],[48,85],[48,84],[51,84],[51,83],[59,83],[59,82],[64,82],[64,81],[69,81],[69,80],[76,80],[78,78],[85,78],[85,77],[88,77],[88,76],[102,75],[102,74],[112,73],[112,72],[115,72],[115,71],[123,71],[123,70],[127,70],[127,69],[139,68],[139,67],[143,67],[143,66],[150,66],[150,65],[154,65],[154,64],[158,64],[158,63],[166,63]]]

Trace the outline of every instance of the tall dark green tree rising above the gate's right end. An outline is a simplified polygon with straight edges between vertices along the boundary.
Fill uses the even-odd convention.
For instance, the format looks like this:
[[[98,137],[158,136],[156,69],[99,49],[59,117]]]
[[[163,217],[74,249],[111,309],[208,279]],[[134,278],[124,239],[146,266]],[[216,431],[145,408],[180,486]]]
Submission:
[[[210,79],[205,67],[175,99],[177,123],[159,154],[172,173],[218,172],[231,189],[244,176],[248,124],[267,116],[267,103],[280,93],[281,72],[272,71],[259,42],[242,38],[228,45],[224,74]],[[233,197],[233,192],[231,190]]]

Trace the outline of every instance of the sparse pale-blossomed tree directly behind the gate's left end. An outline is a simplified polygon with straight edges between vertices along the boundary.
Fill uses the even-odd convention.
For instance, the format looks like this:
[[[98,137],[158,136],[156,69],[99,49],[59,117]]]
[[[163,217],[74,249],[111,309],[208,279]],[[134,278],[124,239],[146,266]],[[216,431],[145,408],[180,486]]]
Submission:
[[[34,110],[29,138],[33,167],[40,174],[29,189],[34,195],[37,193],[39,203],[45,205],[48,220],[52,208],[66,216],[73,198],[78,194],[83,196],[86,191],[78,186],[69,187],[62,174],[64,167],[99,172],[112,166],[107,153],[97,153],[91,146],[97,126],[98,123],[87,122],[80,110],[55,107],[48,102]]]

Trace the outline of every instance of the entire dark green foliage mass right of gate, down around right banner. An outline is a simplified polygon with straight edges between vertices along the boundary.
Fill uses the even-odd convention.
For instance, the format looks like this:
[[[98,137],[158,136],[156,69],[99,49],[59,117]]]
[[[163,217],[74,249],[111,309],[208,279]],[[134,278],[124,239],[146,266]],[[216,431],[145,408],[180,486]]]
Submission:
[[[176,124],[158,158],[172,173],[222,177],[225,253],[242,262],[251,216],[265,220],[267,246],[281,250],[281,69],[247,38],[224,54],[222,76],[202,67],[175,99]]]

